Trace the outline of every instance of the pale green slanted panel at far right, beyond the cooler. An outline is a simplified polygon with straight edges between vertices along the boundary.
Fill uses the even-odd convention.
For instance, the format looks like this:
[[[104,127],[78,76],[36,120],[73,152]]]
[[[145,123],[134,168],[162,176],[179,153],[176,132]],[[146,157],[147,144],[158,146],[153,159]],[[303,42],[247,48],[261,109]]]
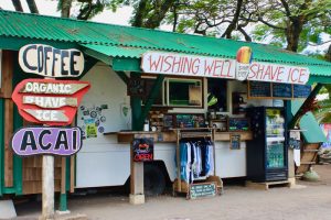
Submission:
[[[295,116],[302,106],[302,100],[291,101],[291,112]],[[327,138],[322,132],[318,121],[311,112],[307,112],[299,122],[300,129],[303,130],[301,134],[306,143],[321,143],[327,142]]]

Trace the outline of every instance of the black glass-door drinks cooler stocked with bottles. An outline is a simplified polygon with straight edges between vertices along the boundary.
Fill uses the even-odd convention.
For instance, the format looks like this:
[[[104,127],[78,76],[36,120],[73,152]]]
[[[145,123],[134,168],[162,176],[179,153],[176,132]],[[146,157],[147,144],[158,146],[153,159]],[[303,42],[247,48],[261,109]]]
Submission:
[[[285,180],[288,177],[287,130],[284,108],[247,109],[253,140],[247,142],[247,179]]]

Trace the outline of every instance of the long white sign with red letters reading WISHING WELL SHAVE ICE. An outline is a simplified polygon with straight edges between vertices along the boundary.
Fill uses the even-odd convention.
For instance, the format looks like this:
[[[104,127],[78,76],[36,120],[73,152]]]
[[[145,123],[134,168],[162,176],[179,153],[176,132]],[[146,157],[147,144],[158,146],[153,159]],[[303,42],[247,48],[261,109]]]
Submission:
[[[141,59],[141,69],[145,73],[191,77],[235,79],[236,68],[239,68],[236,66],[235,59],[159,52],[147,52]],[[241,70],[244,69],[238,73]],[[309,69],[306,67],[257,62],[249,65],[247,76],[247,80],[299,85],[307,84],[308,79]]]

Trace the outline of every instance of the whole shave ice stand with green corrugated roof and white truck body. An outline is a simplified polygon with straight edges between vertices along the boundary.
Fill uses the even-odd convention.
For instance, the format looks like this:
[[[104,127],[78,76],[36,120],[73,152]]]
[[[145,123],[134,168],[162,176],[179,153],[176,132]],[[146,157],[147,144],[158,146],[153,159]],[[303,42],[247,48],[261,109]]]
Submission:
[[[181,193],[195,182],[222,188],[222,178],[291,178],[291,101],[313,99],[316,85],[330,81],[330,63],[265,44],[4,10],[0,20],[0,196],[41,193],[41,156],[19,157],[10,145],[15,130],[31,125],[11,99],[13,88],[32,78],[26,70],[58,65],[67,79],[79,72],[90,84],[73,122],[82,130],[82,150],[55,158],[55,190],[64,194],[129,179],[135,196],[162,194],[169,183]],[[28,69],[18,61],[24,46],[40,56],[25,61]],[[54,57],[81,51],[84,69],[70,68],[82,58],[75,53],[47,63],[50,47]],[[256,120],[267,122],[255,120],[257,107],[265,110]],[[254,144],[264,147],[259,158],[252,157]],[[259,175],[270,178],[252,173],[261,166],[268,168]]]

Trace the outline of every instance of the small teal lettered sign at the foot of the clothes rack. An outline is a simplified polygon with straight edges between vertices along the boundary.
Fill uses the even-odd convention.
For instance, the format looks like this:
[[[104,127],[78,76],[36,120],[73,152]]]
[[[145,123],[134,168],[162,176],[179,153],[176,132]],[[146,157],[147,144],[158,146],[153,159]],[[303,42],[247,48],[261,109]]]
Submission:
[[[217,194],[216,183],[191,184],[189,194],[190,199],[214,197]]]

